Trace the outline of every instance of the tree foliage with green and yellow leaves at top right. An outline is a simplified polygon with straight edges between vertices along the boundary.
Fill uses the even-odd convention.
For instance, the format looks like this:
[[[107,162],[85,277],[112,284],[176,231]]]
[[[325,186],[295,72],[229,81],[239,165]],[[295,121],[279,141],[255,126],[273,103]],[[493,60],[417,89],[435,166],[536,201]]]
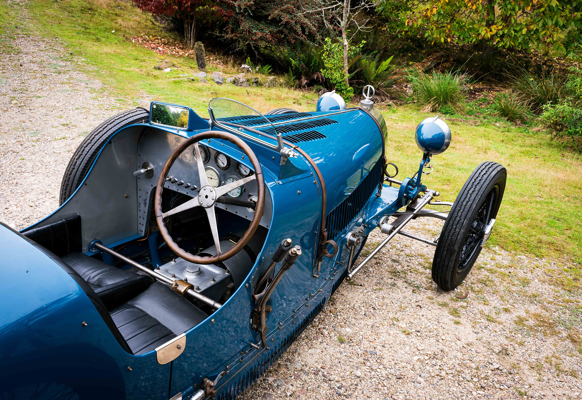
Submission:
[[[382,0],[378,10],[400,34],[431,41],[562,52],[582,41],[580,0]]]

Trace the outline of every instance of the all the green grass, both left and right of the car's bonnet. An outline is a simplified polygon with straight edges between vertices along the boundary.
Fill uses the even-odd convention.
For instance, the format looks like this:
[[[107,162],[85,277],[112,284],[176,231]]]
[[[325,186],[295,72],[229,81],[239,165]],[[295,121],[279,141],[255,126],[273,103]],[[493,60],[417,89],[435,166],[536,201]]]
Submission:
[[[11,12],[14,10],[16,6],[8,8],[0,3],[0,18],[13,20]],[[278,107],[315,109],[317,95],[311,92],[285,87],[218,86],[176,79],[181,73],[197,72],[195,60],[161,56],[133,44],[131,38],[136,34],[176,37],[162,30],[148,13],[129,2],[31,0],[30,15],[36,18],[40,34],[58,37],[65,45],[66,52],[60,58],[46,62],[58,64],[59,59],[63,59],[77,63],[81,70],[108,86],[105,91],[118,99],[112,105],[115,108],[135,106],[134,100],[147,98],[189,105],[206,116],[210,99],[230,97],[261,111]],[[0,29],[3,26],[5,24],[0,24]],[[153,66],[162,58],[174,63],[179,70],[170,73],[154,70]],[[54,69],[56,72],[62,70],[56,65]],[[239,72],[232,65],[210,64],[209,69],[230,74]],[[95,97],[100,95],[101,92],[95,92]],[[582,262],[580,154],[549,141],[546,134],[532,131],[530,127],[514,127],[490,114],[485,117],[472,115],[474,109],[479,106],[466,110],[464,116],[445,117],[453,132],[452,144],[448,151],[432,159],[434,172],[425,176],[423,183],[441,192],[442,200],[454,201],[479,163],[484,160],[499,162],[508,169],[508,184],[487,246]],[[383,113],[389,129],[386,157],[400,167],[398,178],[412,176],[421,159],[421,152],[414,145],[414,127],[430,114],[421,113],[414,106],[389,108]],[[569,271],[580,274],[577,267]]]

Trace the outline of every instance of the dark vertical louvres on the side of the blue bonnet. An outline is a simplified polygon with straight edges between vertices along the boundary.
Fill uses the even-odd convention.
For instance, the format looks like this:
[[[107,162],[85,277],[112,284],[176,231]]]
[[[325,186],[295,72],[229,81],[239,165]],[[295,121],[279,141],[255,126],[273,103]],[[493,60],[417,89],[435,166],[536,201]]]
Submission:
[[[378,160],[358,187],[329,212],[325,218],[329,239],[336,240],[336,237],[352,223],[372,194],[378,190],[381,177],[382,163]]]

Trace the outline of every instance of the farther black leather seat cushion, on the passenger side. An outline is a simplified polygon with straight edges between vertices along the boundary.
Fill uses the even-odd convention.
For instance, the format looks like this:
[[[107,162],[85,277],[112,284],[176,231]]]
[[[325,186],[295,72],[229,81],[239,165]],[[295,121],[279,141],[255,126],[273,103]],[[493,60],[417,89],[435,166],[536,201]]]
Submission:
[[[147,275],[121,270],[83,253],[70,253],[61,259],[89,284],[108,310],[136,297],[153,282]]]

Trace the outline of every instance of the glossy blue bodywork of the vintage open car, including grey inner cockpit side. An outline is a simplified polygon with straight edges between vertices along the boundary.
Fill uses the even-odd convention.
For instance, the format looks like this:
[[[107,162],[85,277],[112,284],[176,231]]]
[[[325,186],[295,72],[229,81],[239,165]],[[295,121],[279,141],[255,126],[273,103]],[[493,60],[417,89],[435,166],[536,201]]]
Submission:
[[[283,138],[314,129],[324,135],[298,143],[324,177],[327,188],[324,215],[321,184],[306,159],[299,156],[279,165],[274,151],[247,141],[261,163],[272,201],[272,217],[265,223],[267,237],[244,284],[221,308],[186,332],[186,348],[171,363],[160,365],[155,351],[136,356],[123,350],[80,286],[33,242],[9,227],[0,226],[2,397],[29,398],[39,388],[47,387],[45,395],[38,398],[107,395],[112,399],[165,400],[180,392],[182,398],[187,398],[200,388],[203,378],[214,379],[226,371],[216,387],[217,398],[231,399],[260,376],[321,311],[346,277],[347,233],[356,226],[364,227],[365,238],[383,216],[392,215],[409,202],[406,192],[399,193],[398,188],[383,183],[382,132],[369,113],[349,109],[308,115],[316,128],[306,127],[283,134]],[[318,123],[322,121],[325,124]],[[143,192],[137,190],[136,178],[125,178],[125,172],[130,176],[139,165],[136,148],[146,140],[145,133],[148,138],[169,135],[178,142],[208,130],[207,121],[194,112],[191,122],[192,130],[148,123],[119,130],[111,137],[111,144],[101,149],[77,191],[54,213],[27,230],[80,215],[83,252],[87,254],[91,254],[88,246],[95,239],[112,248],[143,237],[135,201],[141,199],[138,193]],[[280,126],[292,124],[294,121],[288,120]],[[230,142],[213,139],[204,145],[252,167]],[[168,155],[164,154],[164,160]],[[418,176],[421,170],[422,165]],[[123,177],[119,177],[120,171],[125,171]],[[416,183],[415,178],[410,190],[416,188],[418,192]],[[125,185],[128,195],[114,197],[115,185]],[[97,200],[83,208],[83,203],[92,198]],[[146,200],[143,201],[145,204]],[[115,214],[110,212],[112,207]],[[337,242],[338,251],[331,258],[323,258],[318,277],[314,277],[321,218],[327,219],[328,238]],[[106,219],[113,222],[104,226]],[[155,265],[159,263],[158,242],[152,237],[155,235],[144,243],[150,247]],[[249,344],[259,338],[249,324],[255,306],[253,285],[267,269],[270,255],[283,238],[300,244],[303,255],[283,276],[269,299],[273,310],[267,319],[267,347],[253,348]],[[102,259],[112,263],[105,254]]]

